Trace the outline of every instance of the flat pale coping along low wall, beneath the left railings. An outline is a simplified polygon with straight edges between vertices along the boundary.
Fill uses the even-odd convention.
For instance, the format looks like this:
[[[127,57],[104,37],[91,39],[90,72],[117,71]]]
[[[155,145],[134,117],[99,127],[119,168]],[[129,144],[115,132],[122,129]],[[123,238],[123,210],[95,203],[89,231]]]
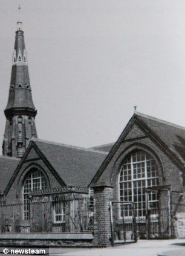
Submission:
[[[1,240],[92,240],[91,233],[0,234]]]

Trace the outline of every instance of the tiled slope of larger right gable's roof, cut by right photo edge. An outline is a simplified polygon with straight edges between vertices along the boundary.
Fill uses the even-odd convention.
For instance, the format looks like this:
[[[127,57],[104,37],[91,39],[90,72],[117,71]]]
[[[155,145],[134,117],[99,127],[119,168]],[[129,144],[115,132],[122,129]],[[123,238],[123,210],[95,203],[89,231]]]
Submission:
[[[135,114],[138,120],[144,122],[168,148],[185,163],[185,128],[141,113]]]

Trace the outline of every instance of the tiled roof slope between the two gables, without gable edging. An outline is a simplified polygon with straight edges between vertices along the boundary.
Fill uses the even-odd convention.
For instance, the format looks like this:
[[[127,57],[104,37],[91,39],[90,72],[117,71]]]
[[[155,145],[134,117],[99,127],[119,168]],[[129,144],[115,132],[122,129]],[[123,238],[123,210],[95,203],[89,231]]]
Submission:
[[[45,140],[33,143],[51,163],[67,186],[88,186],[107,153]]]

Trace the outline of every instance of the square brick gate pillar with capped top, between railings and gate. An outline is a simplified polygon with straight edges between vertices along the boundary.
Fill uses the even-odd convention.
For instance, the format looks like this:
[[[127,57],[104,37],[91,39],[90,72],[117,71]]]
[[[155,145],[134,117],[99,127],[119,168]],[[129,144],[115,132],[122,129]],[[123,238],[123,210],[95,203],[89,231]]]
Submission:
[[[94,241],[96,246],[111,246],[110,201],[112,186],[94,186]]]

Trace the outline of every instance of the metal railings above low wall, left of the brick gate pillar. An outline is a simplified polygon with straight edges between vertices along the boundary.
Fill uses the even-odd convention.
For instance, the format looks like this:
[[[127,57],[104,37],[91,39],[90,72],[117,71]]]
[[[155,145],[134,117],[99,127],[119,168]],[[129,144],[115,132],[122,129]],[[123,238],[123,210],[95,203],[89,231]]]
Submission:
[[[93,226],[88,197],[55,197],[0,206],[1,233],[92,232]]]

